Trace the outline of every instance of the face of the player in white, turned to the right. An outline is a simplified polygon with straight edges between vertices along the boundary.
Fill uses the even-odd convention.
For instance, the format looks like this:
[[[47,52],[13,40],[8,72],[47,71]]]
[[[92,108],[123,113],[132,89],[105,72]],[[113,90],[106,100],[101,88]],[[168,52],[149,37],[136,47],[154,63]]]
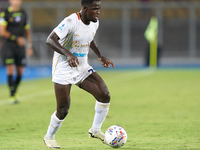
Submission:
[[[94,1],[91,5],[89,5],[87,11],[88,20],[92,22],[97,22],[97,20],[99,19],[100,9],[101,9],[100,1]]]

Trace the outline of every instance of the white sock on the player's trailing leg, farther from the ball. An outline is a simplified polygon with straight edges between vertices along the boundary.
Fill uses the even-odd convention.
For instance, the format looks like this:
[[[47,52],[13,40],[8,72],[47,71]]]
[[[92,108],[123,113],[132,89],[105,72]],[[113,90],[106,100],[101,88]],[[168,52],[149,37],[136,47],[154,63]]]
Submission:
[[[59,130],[60,126],[62,125],[62,122],[64,120],[58,119],[56,116],[56,111],[51,116],[50,124],[47,130],[46,138],[47,139],[53,139],[55,138],[56,132]]]

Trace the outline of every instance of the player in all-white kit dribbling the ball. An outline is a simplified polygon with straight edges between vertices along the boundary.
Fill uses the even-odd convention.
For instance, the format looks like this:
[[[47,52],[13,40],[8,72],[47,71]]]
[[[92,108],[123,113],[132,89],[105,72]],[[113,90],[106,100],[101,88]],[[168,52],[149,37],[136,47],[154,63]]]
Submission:
[[[44,143],[49,148],[60,148],[55,134],[61,127],[70,108],[72,84],[89,92],[96,99],[95,115],[89,136],[105,143],[101,131],[110,105],[110,93],[102,78],[88,64],[91,48],[104,67],[114,68],[112,61],[105,58],[94,42],[99,26],[100,0],[81,0],[81,11],[66,17],[48,36],[46,43],[55,52],[52,66],[57,110],[52,114]],[[80,112],[81,113],[81,112]]]

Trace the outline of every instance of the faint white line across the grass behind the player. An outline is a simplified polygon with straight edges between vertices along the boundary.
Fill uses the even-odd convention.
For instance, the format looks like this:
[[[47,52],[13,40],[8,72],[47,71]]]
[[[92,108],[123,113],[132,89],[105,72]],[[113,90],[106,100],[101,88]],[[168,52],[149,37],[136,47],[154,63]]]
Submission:
[[[144,74],[138,74],[139,76],[135,76],[132,79],[144,78],[144,77],[152,75],[155,72],[154,71],[140,71],[140,73],[144,73]],[[124,79],[122,79],[122,80],[124,80]],[[75,91],[75,90],[78,90],[78,89],[79,88],[73,88],[72,91]],[[42,91],[42,92],[38,92],[38,93],[32,93],[32,94],[28,94],[28,95],[19,96],[19,98],[20,98],[20,101],[27,101],[27,100],[34,100],[37,97],[42,97],[42,96],[45,97],[46,95],[48,95],[48,96],[49,95],[54,95],[54,89],[50,89],[50,90],[46,90],[46,91]],[[9,103],[10,103],[10,99],[0,100],[0,105],[6,105],[6,104],[9,104]]]

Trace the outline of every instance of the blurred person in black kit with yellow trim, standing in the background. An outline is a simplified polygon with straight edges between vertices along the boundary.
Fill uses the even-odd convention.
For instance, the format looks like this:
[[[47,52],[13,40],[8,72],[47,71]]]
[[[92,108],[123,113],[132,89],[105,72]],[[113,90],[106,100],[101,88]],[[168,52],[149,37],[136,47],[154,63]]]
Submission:
[[[27,55],[32,55],[33,50],[27,15],[20,8],[22,0],[9,0],[9,2],[10,6],[0,14],[0,36],[3,37],[4,41],[2,56],[8,76],[11,104],[16,104],[19,102],[16,97],[16,91],[26,64],[24,34],[28,42]],[[13,77],[15,66],[16,79]]]

